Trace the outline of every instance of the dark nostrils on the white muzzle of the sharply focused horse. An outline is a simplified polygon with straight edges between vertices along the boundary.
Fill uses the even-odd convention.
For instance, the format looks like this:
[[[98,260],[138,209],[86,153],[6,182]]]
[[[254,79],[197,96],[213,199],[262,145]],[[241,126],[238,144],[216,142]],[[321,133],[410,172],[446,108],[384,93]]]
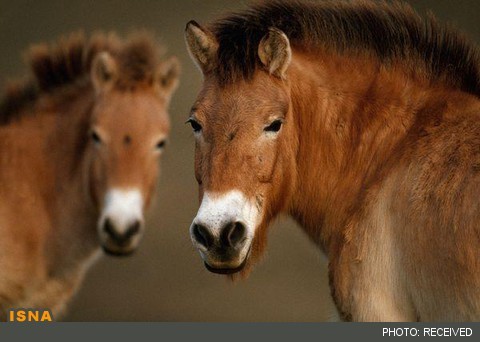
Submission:
[[[207,250],[214,246],[222,249],[240,249],[247,237],[247,228],[242,222],[229,222],[219,233],[214,234],[212,229],[200,223],[195,223],[192,227],[193,239]]]

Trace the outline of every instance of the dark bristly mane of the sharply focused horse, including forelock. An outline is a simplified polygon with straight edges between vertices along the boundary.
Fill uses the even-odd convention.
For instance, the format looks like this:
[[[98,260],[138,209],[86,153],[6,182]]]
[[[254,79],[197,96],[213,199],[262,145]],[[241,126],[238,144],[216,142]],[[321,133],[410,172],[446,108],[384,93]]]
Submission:
[[[293,48],[337,53],[369,51],[382,62],[405,60],[412,71],[480,95],[480,55],[457,30],[422,19],[409,5],[376,1],[264,1],[215,21],[216,72],[227,84],[250,79],[259,67],[257,48],[270,27]]]

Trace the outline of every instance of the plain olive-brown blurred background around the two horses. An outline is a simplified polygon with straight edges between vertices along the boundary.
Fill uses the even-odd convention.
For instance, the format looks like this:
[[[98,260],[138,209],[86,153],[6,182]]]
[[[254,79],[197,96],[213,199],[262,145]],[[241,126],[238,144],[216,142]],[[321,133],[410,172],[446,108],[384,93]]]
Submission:
[[[480,1],[408,1],[431,10],[480,41]],[[263,261],[247,280],[232,283],[209,273],[188,232],[198,208],[193,176],[193,136],[183,123],[201,86],[201,75],[186,52],[187,21],[205,23],[248,1],[0,0],[0,87],[26,68],[22,52],[79,29],[126,34],[153,31],[182,62],[181,85],[170,114],[170,144],[162,161],[156,203],[147,233],[130,258],[104,256],[88,272],[66,321],[325,321],[334,319],[326,260],[290,219],[270,230]]]

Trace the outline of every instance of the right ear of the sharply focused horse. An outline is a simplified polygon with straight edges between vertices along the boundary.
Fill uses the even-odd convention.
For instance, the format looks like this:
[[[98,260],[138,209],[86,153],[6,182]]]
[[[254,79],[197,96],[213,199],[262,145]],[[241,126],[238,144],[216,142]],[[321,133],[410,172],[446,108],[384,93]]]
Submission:
[[[285,79],[292,60],[290,41],[285,33],[271,28],[260,41],[258,57],[270,74]]]

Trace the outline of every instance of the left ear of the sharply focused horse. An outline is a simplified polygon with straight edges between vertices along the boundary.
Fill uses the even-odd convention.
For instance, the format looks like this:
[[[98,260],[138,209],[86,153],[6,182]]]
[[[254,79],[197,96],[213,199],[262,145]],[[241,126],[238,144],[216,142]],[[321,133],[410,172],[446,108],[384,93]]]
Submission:
[[[218,49],[215,37],[197,22],[189,21],[185,28],[185,41],[193,61],[205,74],[212,67]]]

